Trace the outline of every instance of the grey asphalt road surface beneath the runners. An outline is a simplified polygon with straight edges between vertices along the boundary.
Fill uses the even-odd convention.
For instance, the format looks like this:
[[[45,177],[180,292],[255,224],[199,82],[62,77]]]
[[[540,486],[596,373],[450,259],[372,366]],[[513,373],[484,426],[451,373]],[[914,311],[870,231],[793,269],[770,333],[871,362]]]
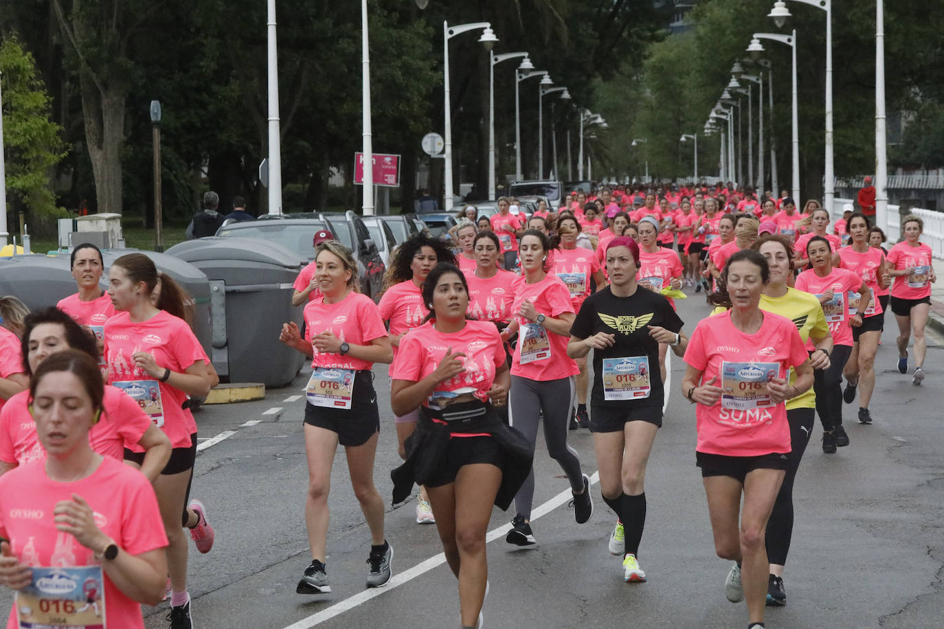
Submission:
[[[691,331],[707,307],[700,295],[679,302]],[[889,323],[891,323],[889,321]],[[851,445],[825,455],[817,425],[795,488],[796,525],[784,582],[788,604],[767,608],[767,627],[940,627],[944,625],[944,443],[941,339],[929,337],[927,379],[913,387],[895,370],[895,331],[879,348],[875,423],[855,422],[846,406]],[[504,541],[514,513],[495,510],[488,545],[491,593],[487,627],[745,626],[744,604],[724,596],[729,563],[716,557],[700,472],[695,467],[694,409],[678,390],[684,365],[671,363],[666,420],[651,458],[647,530],[640,563],[649,581],[625,584],[607,540],[615,516],[594,488],[593,518],[574,521],[569,487],[538,443],[532,523],[538,544]],[[381,432],[376,480],[389,503],[396,432],[386,367],[376,369]],[[433,526],[414,521],[413,502],[387,509],[395,578],[365,590],[370,538],[347,477],[335,458],[329,530],[332,593],[295,594],[308,565],[303,518],[307,467],[302,440],[300,375],[292,388],[261,402],[205,406],[200,437],[215,441],[198,455],[193,495],[216,528],[209,555],[192,547],[194,627],[451,627],[458,625],[455,579],[443,562]],[[246,425],[248,424],[248,425]],[[225,439],[217,436],[226,435]],[[588,431],[570,433],[585,472],[595,472]],[[538,516],[538,514],[541,514]],[[0,595],[6,608],[8,592]],[[167,604],[145,608],[149,629],[166,627]]]

